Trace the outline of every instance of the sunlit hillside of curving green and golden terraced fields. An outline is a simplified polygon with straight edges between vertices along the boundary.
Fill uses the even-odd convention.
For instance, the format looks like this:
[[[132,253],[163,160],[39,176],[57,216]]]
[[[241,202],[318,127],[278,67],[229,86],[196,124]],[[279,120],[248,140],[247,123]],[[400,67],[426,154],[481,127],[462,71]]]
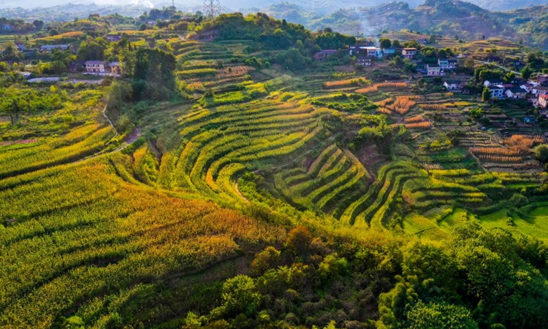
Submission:
[[[29,36],[75,47],[27,60],[53,82],[0,64],[0,328],[548,328],[548,118],[483,95],[514,73],[463,59],[453,93],[316,57],[352,36],[190,19]]]

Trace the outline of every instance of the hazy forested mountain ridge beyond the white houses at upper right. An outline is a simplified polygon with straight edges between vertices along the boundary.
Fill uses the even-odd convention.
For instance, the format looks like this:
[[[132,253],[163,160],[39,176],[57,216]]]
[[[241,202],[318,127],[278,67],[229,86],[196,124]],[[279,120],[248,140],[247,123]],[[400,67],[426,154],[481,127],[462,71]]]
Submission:
[[[527,45],[548,49],[548,5],[490,12],[459,0],[426,0],[416,8],[406,2],[393,2],[340,9],[326,16],[295,5],[271,5],[262,11],[277,18],[293,16],[295,22],[313,31],[331,27],[345,34],[375,36],[384,30],[410,29],[463,40],[484,37],[523,40]]]

